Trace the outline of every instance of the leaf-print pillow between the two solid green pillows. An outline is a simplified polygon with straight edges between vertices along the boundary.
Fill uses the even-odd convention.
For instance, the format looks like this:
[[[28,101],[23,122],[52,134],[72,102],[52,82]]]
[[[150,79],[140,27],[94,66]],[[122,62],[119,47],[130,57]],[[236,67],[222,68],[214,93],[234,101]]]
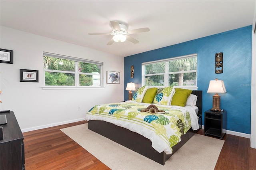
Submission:
[[[172,87],[164,87],[157,89],[156,96],[153,103],[158,105],[169,105],[170,98],[172,97]]]

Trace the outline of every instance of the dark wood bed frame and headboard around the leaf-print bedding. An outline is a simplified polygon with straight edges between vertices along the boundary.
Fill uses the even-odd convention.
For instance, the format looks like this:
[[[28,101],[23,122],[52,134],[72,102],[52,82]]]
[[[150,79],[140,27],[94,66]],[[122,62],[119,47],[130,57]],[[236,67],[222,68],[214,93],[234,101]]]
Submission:
[[[202,91],[192,91],[192,94],[198,96],[196,106],[199,108],[198,115],[202,115]],[[172,154],[174,154],[199,130],[192,130],[192,128],[190,128],[186,134],[181,136],[181,141],[173,146],[172,154],[166,154],[165,152],[159,153],[152,148],[151,141],[148,138],[145,138],[144,136],[136,132],[132,132],[126,128],[116,126],[112,123],[90,120],[88,121],[88,129],[101,134],[102,136],[105,136],[106,138],[109,138],[114,142],[125,146],[126,148],[134,150],[135,152],[138,152],[139,154],[142,154],[162,165],[164,165],[166,160],[168,160]]]

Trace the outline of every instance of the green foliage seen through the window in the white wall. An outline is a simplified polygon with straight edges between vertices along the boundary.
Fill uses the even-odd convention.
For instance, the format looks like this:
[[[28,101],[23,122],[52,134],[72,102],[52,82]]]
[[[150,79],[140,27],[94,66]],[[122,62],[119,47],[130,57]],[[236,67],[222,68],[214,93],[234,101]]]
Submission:
[[[78,64],[79,86],[100,86],[100,65],[50,56],[44,56],[45,85],[74,86],[76,64]]]

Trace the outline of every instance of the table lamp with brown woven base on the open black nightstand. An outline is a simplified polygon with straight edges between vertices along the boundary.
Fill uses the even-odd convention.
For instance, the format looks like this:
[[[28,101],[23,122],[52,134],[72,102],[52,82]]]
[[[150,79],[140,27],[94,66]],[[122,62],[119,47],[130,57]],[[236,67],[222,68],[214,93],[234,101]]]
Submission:
[[[207,93],[215,93],[212,99],[211,111],[220,111],[220,96],[218,93],[226,93],[225,85],[223,80],[210,80],[210,84]]]

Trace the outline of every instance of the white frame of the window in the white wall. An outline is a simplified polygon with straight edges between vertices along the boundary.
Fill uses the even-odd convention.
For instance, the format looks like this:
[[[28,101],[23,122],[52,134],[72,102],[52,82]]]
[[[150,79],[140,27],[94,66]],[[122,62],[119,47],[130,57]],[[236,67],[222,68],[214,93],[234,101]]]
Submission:
[[[75,61],[75,71],[62,71],[62,70],[44,69],[44,86],[42,87],[42,89],[50,89],[50,90],[51,89],[104,89],[104,83],[103,83],[103,79],[104,79],[104,76],[103,76],[103,62],[93,61],[93,60],[89,60],[89,59],[76,58],[76,57],[70,57],[70,56],[66,56],[66,55],[59,55],[59,54],[48,53],[48,52],[43,52],[43,57],[44,56],[49,56],[49,57],[54,57],[54,58],[61,58],[61,59],[67,59],[67,60]],[[100,65],[100,74],[79,72],[78,71],[78,63],[79,62]],[[45,72],[71,73],[71,74],[74,74],[75,85],[74,86],[45,85]],[[100,85],[99,86],[80,86],[80,82],[79,82],[80,74],[81,75],[99,75],[100,76]]]

